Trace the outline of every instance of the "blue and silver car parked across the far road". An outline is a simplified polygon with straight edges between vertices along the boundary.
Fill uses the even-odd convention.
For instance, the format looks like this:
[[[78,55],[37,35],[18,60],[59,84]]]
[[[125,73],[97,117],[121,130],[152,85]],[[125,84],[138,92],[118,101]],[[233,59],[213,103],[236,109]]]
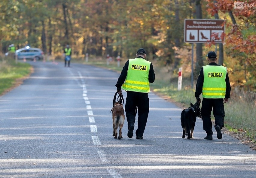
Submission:
[[[17,55],[18,59],[34,59],[40,60],[44,58],[44,52],[39,48],[30,48],[26,46],[25,48],[20,48],[15,51],[15,55]]]

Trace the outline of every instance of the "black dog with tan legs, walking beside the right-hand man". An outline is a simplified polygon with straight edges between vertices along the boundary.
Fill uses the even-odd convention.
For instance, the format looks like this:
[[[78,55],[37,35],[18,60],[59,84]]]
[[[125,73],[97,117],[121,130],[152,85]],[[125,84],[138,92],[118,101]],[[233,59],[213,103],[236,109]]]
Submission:
[[[186,134],[187,139],[193,139],[193,132],[197,116],[202,118],[200,103],[201,99],[198,98],[194,105],[190,102],[190,107],[183,109],[181,112],[181,127],[183,129],[182,138],[185,138]]]

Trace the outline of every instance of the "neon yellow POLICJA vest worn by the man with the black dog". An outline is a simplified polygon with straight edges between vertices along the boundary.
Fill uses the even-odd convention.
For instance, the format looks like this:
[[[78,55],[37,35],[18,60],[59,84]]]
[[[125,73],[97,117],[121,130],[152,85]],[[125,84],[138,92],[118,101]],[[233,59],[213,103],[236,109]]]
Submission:
[[[225,98],[227,68],[224,66],[203,66],[203,98]]]

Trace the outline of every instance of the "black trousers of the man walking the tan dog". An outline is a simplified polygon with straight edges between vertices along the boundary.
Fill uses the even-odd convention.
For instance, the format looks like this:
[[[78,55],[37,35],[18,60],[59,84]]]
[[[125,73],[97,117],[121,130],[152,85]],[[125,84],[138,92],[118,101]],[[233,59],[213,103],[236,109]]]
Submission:
[[[135,124],[136,111],[138,107],[138,129],[136,136],[143,136],[149,112],[148,93],[127,91],[125,112],[128,122],[128,128],[131,124]]]

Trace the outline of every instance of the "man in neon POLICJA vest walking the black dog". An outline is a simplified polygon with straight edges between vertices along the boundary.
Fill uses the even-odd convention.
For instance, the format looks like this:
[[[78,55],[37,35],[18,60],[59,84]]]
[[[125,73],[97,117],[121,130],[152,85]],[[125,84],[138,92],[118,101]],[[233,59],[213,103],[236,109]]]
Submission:
[[[195,97],[197,100],[202,93],[202,119],[203,130],[207,136],[204,139],[212,140],[212,121],[211,112],[215,118],[215,130],[217,138],[222,139],[221,129],[224,127],[224,103],[230,98],[230,82],[227,68],[216,63],[217,54],[210,51],[207,54],[208,65],[203,66],[197,78]]]

